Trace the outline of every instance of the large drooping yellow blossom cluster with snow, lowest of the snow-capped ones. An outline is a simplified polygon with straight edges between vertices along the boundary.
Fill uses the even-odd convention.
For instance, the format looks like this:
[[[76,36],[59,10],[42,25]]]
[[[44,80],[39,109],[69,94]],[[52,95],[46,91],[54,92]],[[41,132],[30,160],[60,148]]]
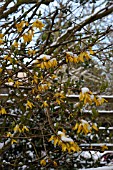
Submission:
[[[60,131],[59,131],[60,132]],[[62,148],[62,151],[78,152],[81,149],[71,138],[66,137],[65,133],[58,133],[58,136],[52,135],[49,142],[53,141],[54,146],[58,145]]]

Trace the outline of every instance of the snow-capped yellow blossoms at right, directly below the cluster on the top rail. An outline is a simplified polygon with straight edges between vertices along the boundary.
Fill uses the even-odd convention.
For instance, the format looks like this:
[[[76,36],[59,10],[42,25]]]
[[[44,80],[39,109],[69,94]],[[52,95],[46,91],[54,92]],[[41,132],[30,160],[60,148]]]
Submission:
[[[80,123],[76,123],[73,130],[77,130],[77,133],[84,133],[87,135],[91,133],[92,129],[98,131],[97,126],[93,123],[92,126],[86,120],[80,120]]]

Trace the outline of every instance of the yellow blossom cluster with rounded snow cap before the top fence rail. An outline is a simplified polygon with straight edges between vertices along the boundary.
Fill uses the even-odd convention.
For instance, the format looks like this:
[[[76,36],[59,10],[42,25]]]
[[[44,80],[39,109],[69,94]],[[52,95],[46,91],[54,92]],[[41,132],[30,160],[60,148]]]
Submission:
[[[84,104],[89,103],[91,105],[92,103],[95,103],[96,106],[100,106],[104,102],[107,102],[107,100],[105,100],[104,98],[93,95],[92,92],[86,87],[82,88],[79,99],[80,101],[83,101]]]

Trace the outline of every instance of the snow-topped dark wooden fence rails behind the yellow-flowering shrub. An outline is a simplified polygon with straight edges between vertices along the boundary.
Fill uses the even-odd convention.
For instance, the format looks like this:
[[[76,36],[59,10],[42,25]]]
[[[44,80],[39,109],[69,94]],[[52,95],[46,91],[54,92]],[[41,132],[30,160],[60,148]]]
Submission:
[[[4,92],[4,93],[1,93]],[[0,91],[0,100],[2,99],[7,99],[8,98],[8,94],[5,93],[5,91]],[[79,100],[79,95],[67,95],[66,96],[67,99],[72,102],[72,103],[76,103]],[[113,96],[106,96],[106,95],[101,95],[100,97],[103,97],[104,99],[106,99],[109,103],[113,103]],[[84,113],[90,113],[90,110],[84,110]],[[113,120],[113,110],[98,110],[98,114],[99,117],[110,117],[111,120]],[[110,133],[113,133],[113,125],[112,126],[107,126],[107,127],[99,127],[100,131],[103,131],[103,133],[105,133],[106,131],[109,130]],[[107,136],[106,136],[107,138]],[[82,148],[89,148],[89,147],[93,147],[94,149],[97,149],[100,146],[104,146],[106,145],[108,147],[109,150],[113,150],[113,137],[111,136],[111,140],[112,142],[109,142],[109,140],[107,141],[106,139],[104,139],[104,141],[102,143],[82,143],[80,144],[80,146]]]

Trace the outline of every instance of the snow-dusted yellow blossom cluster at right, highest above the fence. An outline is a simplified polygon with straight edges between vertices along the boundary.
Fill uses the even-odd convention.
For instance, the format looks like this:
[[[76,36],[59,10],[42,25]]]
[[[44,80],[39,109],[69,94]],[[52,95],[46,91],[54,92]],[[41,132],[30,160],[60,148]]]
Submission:
[[[73,62],[73,63],[78,63],[78,62],[84,62],[84,59],[89,60],[91,59],[90,55],[88,52],[84,51],[81,52],[78,56],[73,54],[72,52],[66,52],[66,62]]]

